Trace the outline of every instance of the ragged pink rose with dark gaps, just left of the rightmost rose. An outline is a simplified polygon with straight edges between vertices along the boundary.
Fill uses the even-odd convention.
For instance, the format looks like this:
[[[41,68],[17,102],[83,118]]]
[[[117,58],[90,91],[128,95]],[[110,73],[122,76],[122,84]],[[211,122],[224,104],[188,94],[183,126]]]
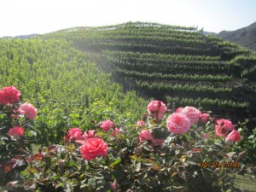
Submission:
[[[215,125],[215,135],[227,137],[231,130],[234,130],[234,125],[230,120],[218,119]]]

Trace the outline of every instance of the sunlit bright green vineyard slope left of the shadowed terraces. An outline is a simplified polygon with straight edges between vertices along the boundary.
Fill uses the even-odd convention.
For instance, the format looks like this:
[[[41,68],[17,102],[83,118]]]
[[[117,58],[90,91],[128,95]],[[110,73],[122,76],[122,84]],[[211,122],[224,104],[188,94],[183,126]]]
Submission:
[[[38,143],[59,143],[71,127],[89,130],[104,119],[131,124],[148,101],[123,93],[111,76],[65,40],[1,39],[0,87],[14,85],[38,108]]]

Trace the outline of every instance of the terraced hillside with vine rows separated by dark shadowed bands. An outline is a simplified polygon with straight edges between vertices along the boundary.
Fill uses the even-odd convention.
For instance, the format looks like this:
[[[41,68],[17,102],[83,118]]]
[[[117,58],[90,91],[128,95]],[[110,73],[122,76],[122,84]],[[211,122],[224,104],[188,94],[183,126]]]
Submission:
[[[125,86],[178,106],[253,118],[256,56],[195,27],[128,22],[49,33],[91,55]]]

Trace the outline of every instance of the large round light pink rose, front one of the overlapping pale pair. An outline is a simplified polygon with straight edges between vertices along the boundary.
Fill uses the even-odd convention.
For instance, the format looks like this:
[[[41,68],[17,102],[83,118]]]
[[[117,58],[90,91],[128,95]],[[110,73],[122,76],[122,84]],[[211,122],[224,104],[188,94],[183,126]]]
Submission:
[[[166,120],[167,128],[175,134],[182,134],[189,131],[190,120],[184,113],[172,113]]]

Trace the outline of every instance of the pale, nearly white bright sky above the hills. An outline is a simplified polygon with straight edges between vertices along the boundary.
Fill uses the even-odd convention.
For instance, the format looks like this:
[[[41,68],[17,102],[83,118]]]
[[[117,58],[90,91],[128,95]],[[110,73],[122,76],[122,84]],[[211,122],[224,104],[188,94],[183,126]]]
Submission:
[[[256,0],[1,0],[0,37],[127,21],[233,31],[255,22],[255,10]]]

